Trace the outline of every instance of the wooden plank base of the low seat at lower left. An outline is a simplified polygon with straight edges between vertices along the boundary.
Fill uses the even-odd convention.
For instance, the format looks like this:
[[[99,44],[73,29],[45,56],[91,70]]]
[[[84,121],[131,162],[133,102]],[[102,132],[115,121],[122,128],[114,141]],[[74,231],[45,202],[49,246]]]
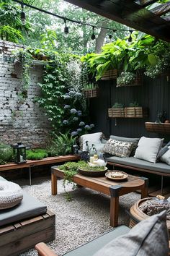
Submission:
[[[55,239],[55,214],[50,210],[34,218],[0,227],[0,255],[17,256],[38,242]]]

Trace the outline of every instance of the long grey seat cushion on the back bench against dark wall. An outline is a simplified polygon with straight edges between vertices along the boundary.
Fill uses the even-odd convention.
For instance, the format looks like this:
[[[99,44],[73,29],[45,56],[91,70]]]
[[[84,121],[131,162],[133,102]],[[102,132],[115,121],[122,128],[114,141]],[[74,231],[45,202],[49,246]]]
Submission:
[[[107,158],[107,162],[120,163],[125,166],[133,166],[135,168],[143,168],[146,170],[157,171],[164,174],[170,174],[170,166],[166,163],[150,163],[138,158],[130,156],[129,158],[120,158],[117,156],[112,156]]]

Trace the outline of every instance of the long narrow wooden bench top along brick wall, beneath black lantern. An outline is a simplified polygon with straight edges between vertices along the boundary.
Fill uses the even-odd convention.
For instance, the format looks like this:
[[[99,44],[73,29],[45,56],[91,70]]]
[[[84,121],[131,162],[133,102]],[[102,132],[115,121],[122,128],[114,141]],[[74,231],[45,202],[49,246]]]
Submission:
[[[59,155],[49,158],[43,158],[42,160],[27,160],[26,163],[7,163],[0,165],[0,171],[14,170],[18,168],[29,168],[31,166],[41,166],[51,163],[60,163],[65,161],[79,160],[79,155]]]

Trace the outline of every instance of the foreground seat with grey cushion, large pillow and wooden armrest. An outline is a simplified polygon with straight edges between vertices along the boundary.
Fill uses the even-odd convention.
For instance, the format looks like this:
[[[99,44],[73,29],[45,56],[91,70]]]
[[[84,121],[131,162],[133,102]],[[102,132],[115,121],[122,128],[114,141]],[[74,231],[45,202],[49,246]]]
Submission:
[[[36,244],[40,256],[55,256],[44,243]],[[97,239],[67,252],[65,256],[168,256],[166,212],[141,221],[133,229],[119,226]]]

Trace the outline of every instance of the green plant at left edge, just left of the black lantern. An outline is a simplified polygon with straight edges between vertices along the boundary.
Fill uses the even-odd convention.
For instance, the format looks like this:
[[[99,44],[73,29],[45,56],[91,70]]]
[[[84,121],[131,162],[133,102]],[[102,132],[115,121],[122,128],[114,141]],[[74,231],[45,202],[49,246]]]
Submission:
[[[13,161],[13,150],[9,145],[0,144],[0,164],[5,164]]]

